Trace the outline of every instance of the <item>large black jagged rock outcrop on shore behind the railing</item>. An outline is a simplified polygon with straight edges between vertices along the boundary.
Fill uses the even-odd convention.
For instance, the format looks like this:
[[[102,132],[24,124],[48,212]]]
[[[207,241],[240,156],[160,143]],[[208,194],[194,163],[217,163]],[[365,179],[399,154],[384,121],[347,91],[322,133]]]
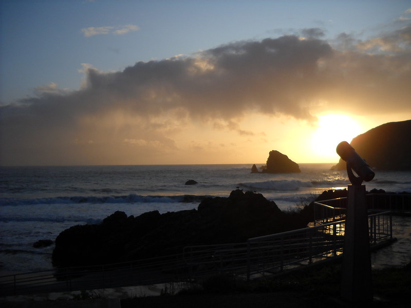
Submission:
[[[179,254],[184,246],[244,242],[302,228],[311,217],[283,213],[261,194],[233,190],[204,199],[198,209],[138,217],[121,211],[101,224],[77,225],[55,240],[55,266],[82,266]]]

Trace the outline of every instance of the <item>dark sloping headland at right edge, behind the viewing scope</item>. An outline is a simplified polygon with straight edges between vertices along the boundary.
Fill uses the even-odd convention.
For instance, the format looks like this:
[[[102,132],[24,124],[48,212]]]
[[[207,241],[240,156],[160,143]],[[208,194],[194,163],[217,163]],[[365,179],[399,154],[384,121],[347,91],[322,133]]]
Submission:
[[[350,145],[371,168],[411,170],[411,120],[372,128],[352,139]],[[332,169],[345,170],[346,162],[340,159]]]

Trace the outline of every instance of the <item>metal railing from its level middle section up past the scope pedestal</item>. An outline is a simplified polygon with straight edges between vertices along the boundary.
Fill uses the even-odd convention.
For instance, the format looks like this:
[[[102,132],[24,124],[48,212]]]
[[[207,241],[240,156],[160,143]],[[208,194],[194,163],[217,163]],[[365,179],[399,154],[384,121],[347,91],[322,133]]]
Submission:
[[[368,216],[370,244],[392,239],[390,212]],[[283,272],[315,261],[337,257],[344,245],[345,220],[248,239],[247,243],[184,248],[186,264],[247,279]]]

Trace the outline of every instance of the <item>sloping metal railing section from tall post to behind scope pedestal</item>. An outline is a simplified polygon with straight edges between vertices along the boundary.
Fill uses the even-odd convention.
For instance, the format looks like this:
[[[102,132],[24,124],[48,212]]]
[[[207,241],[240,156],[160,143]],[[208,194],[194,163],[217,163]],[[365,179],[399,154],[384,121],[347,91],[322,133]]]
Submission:
[[[393,238],[390,211],[368,216],[371,246]],[[343,253],[345,220],[248,240],[247,278],[283,272]]]

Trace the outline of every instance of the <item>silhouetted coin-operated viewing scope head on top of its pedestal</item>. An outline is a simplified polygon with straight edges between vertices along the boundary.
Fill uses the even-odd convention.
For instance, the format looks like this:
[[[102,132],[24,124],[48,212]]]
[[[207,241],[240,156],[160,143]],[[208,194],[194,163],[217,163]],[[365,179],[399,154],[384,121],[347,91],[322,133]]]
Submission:
[[[347,162],[347,174],[351,184],[361,185],[363,181],[369,182],[374,178],[374,171],[348,142],[340,142],[337,146],[337,153],[341,159]],[[358,177],[354,176],[352,170],[356,172]]]

